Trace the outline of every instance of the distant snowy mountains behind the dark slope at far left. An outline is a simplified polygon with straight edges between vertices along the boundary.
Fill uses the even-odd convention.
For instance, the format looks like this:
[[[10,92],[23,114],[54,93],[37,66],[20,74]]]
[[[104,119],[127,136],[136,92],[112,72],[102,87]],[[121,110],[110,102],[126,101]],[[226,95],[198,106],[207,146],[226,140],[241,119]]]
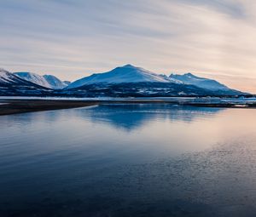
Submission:
[[[32,72],[15,72],[14,74],[22,79],[25,79],[26,81],[36,83],[48,89],[64,89],[67,87],[66,83],[52,75],[40,76]]]

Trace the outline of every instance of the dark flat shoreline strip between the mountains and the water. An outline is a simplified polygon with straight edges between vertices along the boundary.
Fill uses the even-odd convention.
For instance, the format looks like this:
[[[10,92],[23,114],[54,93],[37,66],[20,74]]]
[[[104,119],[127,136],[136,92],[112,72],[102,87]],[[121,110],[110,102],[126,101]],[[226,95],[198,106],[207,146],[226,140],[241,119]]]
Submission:
[[[33,111],[50,111],[59,109],[70,109],[87,106],[98,106],[101,104],[172,104],[177,106],[199,106],[199,107],[218,107],[218,108],[256,108],[256,102],[217,102],[201,100],[168,100],[168,99],[108,99],[108,100],[0,100],[0,116],[12,115]]]

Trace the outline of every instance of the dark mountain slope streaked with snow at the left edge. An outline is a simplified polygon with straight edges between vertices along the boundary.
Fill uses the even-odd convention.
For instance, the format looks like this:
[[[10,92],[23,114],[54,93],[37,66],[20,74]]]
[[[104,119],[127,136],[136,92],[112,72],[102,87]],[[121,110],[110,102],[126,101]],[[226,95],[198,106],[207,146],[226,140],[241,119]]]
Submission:
[[[0,95],[44,95],[49,92],[50,89],[0,69]]]

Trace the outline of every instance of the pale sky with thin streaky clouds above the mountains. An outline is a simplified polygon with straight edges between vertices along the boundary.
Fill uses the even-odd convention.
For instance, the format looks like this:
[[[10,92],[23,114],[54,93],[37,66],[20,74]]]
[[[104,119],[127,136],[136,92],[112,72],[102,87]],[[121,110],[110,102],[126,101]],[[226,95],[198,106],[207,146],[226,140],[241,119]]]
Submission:
[[[0,0],[0,67],[74,81],[132,64],[256,93],[254,0]]]

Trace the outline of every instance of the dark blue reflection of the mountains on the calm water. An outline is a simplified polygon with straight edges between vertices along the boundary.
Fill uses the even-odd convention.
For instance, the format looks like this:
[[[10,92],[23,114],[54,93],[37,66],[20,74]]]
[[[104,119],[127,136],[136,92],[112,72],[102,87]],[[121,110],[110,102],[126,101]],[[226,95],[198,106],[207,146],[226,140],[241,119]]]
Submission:
[[[224,108],[199,108],[168,104],[114,104],[101,105],[79,110],[79,116],[90,118],[95,123],[109,123],[115,128],[132,130],[154,119],[192,122],[196,119],[214,116]]]

